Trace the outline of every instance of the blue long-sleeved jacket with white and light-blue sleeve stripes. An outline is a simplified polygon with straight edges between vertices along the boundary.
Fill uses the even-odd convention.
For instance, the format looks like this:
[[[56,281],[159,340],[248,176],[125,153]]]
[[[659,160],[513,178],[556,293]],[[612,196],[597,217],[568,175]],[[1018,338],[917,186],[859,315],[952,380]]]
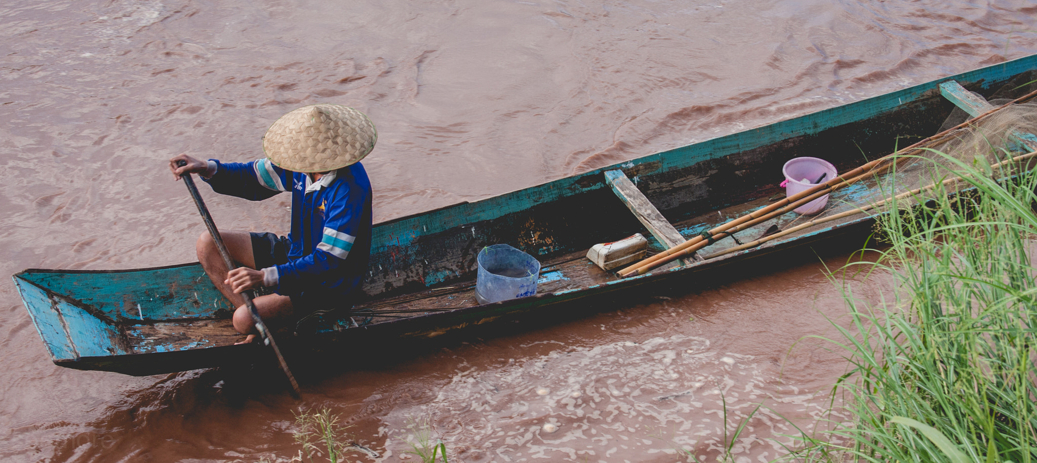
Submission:
[[[371,252],[371,182],[360,163],[321,177],[310,177],[262,158],[220,163],[213,191],[259,201],[291,191],[288,262],[277,265],[282,295],[344,296],[367,271]]]

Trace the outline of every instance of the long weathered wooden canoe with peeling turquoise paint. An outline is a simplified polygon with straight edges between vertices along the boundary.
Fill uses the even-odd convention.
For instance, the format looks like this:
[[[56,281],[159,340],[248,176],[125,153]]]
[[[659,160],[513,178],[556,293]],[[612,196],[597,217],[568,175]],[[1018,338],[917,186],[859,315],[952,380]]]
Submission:
[[[823,250],[859,249],[862,241],[849,238],[868,233],[867,214],[628,279],[586,258],[593,244],[634,233],[644,234],[650,251],[660,252],[758,209],[783,197],[781,169],[789,158],[820,157],[844,172],[933,135],[955,105],[941,94],[942,82],[954,80],[990,98],[1034,81],[1035,69],[1037,55],[376,224],[361,302],[302,326],[295,339],[308,349],[334,352],[423,342],[492,321],[542,323],[588,308],[615,308],[624,294],[699,288],[747,271],[780,269],[775,263],[803,256],[816,259]],[[632,184],[634,192],[627,191]],[[856,194],[860,189],[834,194],[830,207],[851,202]],[[794,216],[790,212],[736,236],[752,240]],[[653,235],[642,220],[669,225]],[[496,243],[541,262],[535,295],[476,301],[476,256]],[[720,240],[701,254],[734,244]],[[232,308],[197,263],[111,271],[27,269],[13,280],[54,363],[62,367],[151,375],[249,363],[264,354],[258,345],[233,345],[241,336],[230,324]],[[280,344],[290,342],[283,338],[291,337],[282,335]]]

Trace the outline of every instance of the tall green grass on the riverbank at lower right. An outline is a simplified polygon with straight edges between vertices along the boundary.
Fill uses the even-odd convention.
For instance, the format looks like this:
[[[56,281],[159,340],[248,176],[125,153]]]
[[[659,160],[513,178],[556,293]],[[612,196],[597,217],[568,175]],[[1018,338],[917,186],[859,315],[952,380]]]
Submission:
[[[894,293],[869,303],[846,289],[850,322],[831,341],[850,361],[835,403],[853,417],[797,436],[790,459],[1037,461],[1037,175],[953,166],[943,174],[972,192],[936,189],[879,218],[889,247],[849,267],[892,276]]]

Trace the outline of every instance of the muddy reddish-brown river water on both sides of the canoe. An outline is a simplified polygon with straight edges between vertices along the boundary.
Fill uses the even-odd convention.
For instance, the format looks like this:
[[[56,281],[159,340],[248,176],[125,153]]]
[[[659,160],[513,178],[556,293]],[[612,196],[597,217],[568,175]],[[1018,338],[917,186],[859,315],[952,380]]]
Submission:
[[[381,222],[1037,53],[1037,5],[8,0],[0,36],[11,274],[194,261],[204,227],[166,160],[256,158],[265,128],[303,105],[377,125],[364,165]],[[286,231],[286,197],[203,195],[221,228]],[[221,371],[56,367],[8,280],[0,460],[287,462],[293,414],[328,408],[385,462],[407,461],[420,429],[451,462],[712,461],[728,444],[739,463],[768,461],[793,424],[840,418],[828,392],[846,364],[806,337],[845,322],[823,270],[848,258],[374,366],[342,358],[300,402]],[[863,295],[882,287],[850,280]]]

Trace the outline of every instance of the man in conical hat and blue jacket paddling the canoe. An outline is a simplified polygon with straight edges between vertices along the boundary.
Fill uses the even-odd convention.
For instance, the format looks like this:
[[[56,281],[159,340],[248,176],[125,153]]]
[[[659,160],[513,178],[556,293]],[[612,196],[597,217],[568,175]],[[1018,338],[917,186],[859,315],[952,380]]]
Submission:
[[[234,329],[255,339],[242,292],[267,288],[253,299],[271,325],[285,325],[314,311],[347,307],[367,271],[371,245],[371,184],[360,160],[377,140],[363,113],[339,105],[291,111],[263,136],[267,157],[249,163],[200,161],[188,154],[169,160],[176,179],[196,173],[213,191],[260,201],[291,193],[291,230],[274,233],[221,231],[228,269],[208,232],[198,238],[198,260],[213,284],[237,306]],[[178,167],[184,161],[187,165]],[[228,271],[229,270],[229,271]]]

